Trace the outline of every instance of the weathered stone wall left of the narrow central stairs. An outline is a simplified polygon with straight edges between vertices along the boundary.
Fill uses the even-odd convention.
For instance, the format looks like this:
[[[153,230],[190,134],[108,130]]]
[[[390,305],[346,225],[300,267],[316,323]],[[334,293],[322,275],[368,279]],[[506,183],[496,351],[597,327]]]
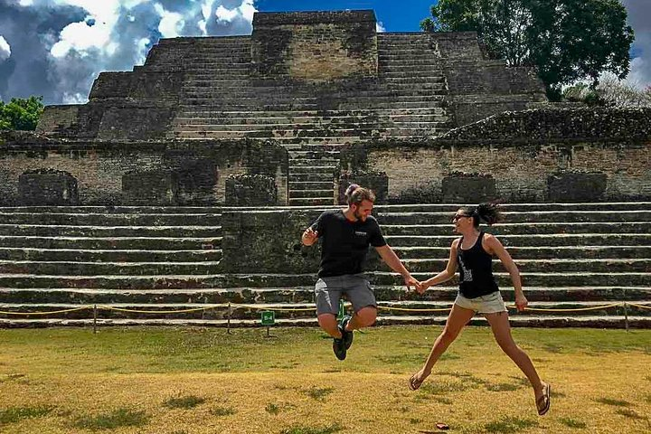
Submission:
[[[278,187],[278,204],[288,203],[288,151],[270,142],[8,137],[0,152],[0,203],[20,204],[20,175],[45,168],[75,178],[80,204],[141,203],[143,197],[151,204],[224,203],[229,175],[268,175]]]

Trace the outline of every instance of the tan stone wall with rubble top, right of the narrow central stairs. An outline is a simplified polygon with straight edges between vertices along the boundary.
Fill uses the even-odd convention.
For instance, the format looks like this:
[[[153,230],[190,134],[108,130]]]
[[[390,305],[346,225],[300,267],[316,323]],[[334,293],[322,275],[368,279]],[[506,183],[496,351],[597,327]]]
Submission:
[[[429,141],[349,146],[342,165],[385,172],[390,203],[649,200],[651,110],[505,113]],[[460,195],[455,174],[481,188]]]

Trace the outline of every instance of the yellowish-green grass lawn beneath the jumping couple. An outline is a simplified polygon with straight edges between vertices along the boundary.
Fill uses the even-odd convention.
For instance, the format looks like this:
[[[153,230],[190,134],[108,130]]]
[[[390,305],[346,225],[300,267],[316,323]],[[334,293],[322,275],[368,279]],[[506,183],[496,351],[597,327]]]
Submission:
[[[315,328],[3,329],[0,432],[651,432],[651,330],[514,329],[552,383],[539,418],[485,327],[410,392],[440,329],[356,333],[344,362]]]

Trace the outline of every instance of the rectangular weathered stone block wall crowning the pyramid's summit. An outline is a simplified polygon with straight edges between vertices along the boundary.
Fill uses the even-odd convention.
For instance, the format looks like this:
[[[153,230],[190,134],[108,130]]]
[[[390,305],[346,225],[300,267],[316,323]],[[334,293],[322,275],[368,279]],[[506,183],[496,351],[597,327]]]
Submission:
[[[318,82],[376,77],[375,14],[257,13],[251,54],[260,79]]]

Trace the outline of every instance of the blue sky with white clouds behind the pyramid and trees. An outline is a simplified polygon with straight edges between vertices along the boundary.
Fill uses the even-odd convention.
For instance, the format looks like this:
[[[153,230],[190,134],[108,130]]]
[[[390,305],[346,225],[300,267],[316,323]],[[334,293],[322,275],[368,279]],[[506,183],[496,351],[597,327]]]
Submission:
[[[373,9],[417,32],[438,0],[0,0],[0,99],[84,103],[101,71],[131,71],[160,38],[250,34],[256,11]],[[622,0],[636,31],[629,79],[651,85],[651,0]]]

